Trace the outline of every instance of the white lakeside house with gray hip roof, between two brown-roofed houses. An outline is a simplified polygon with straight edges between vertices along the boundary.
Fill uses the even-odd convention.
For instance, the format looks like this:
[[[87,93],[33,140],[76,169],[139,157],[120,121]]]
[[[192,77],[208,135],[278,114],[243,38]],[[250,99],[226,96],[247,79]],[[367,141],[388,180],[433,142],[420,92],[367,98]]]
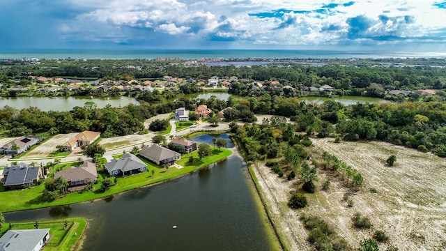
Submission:
[[[121,159],[105,163],[104,168],[110,176],[125,176],[147,171],[147,165],[132,153],[124,153]]]

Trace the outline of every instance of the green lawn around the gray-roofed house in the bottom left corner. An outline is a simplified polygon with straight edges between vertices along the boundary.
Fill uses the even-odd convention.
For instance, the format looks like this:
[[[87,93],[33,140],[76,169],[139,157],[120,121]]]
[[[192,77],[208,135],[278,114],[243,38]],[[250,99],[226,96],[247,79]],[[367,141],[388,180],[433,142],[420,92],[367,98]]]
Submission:
[[[67,222],[67,229],[65,229],[65,221]],[[35,229],[36,222],[11,222],[12,229]],[[0,230],[0,236],[8,231],[10,224],[5,224]],[[49,220],[39,221],[39,228],[49,228],[49,235],[52,238],[47,242],[43,250],[72,250],[74,245],[79,241],[84,229],[86,227],[86,220],[84,218],[70,218],[66,220]]]

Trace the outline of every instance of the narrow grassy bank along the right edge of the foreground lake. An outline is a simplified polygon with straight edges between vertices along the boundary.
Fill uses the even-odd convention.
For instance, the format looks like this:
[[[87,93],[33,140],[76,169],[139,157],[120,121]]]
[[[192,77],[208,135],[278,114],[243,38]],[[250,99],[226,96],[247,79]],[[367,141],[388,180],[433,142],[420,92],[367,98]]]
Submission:
[[[233,142],[236,142],[238,149],[240,151],[240,154],[243,156],[243,158],[246,159],[246,149],[245,146],[243,146],[243,144],[240,144],[240,142],[238,142],[238,140],[232,138]],[[251,176],[252,178],[252,182],[254,183],[254,188],[256,188],[256,193],[257,195],[259,195],[259,200],[261,203],[262,208],[264,209],[262,211],[263,214],[265,214],[265,217],[268,219],[268,236],[270,236],[271,241],[273,242],[273,248],[275,248],[275,250],[288,250],[286,248],[286,246],[284,245],[284,240],[282,238],[282,236],[280,236],[279,232],[277,231],[275,225],[274,225],[274,221],[271,218],[271,208],[268,207],[268,204],[266,204],[266,199],[263,197],[262,194],[262,190],[261,190],[261,186],[259,185],[259,181],[257,181],[257,177],[256,174],[254,174],[254,170],[252,169],[252,165],[247,162],[246,163],[247,168],[248,168],[248,172],[249,172],[249,176]]]

